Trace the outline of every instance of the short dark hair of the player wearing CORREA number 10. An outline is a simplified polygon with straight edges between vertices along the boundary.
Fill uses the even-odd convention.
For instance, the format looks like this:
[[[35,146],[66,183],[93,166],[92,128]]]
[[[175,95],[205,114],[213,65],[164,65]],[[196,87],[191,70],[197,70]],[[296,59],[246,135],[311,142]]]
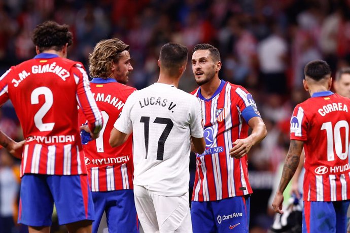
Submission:
[[[304,74],[315,81],[320,81],[331,75],[331,67],[323,60],[310,61],[305,65]]]

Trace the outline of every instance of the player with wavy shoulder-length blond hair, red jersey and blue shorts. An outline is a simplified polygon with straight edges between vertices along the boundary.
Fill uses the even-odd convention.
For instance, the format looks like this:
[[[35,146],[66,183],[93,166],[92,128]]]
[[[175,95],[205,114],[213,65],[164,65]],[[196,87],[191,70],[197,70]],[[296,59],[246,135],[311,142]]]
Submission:
[[[138,232],[132,185],[132,136],[119,147],[112,148],[109,144],[113,124],[128,96],[136,90],[124,85],[133,70],[129,46],[117,38],[102,40],[90,54],[89,61],[93,77],[91,92],[103,116],[100,136],[83,146],[95,206],[92,232],[97,233],[104,212],[110,233]],[[86,118],[81,110],[79,117],[84,124]]]

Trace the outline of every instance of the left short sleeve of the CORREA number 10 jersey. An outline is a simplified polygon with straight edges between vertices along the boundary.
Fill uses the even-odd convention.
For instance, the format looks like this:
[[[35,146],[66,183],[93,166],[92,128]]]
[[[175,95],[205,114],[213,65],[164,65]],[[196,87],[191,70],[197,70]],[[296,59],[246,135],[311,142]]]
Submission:
[[[297,105],[293,110],[291,118],[291,140],[306,141],[307,140],[307,119],[304,109]]]

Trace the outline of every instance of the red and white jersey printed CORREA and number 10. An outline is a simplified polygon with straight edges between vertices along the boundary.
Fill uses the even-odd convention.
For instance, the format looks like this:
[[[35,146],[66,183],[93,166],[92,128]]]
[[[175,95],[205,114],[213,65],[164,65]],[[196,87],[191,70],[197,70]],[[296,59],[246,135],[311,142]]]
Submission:
[[[291,118],[291,140],[304,141],[304,201],[350,199],[350,99],[317,92],[298,104]]]

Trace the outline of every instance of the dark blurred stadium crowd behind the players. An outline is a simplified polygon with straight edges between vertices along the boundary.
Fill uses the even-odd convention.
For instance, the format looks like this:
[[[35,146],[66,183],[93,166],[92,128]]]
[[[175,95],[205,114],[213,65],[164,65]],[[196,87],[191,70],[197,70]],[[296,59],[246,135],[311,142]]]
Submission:
[[[288,150],[290,116],[308,97],[302,88],[304,65],[326,60],[334,77],[350,63],[349,0],[0,0],[1,74],[35,55],[30,33],[45,20],[70,26],[74,44],[68,58],[87,70],[88,55],[101,39],[117,37],[129,44],[134,70],[128,85],[137,89],[157,81],[159,51],[167,42],[186,45],[189,58],[198,43],[219,49],[220,78],[252,93],[268,129],[249,153],[254,233],[266,232],[272,223],[268,199]],[[189,62],[179,88],[196,87]],[[10,102],[1,107],[0,129],[22,139]],[[18,166],[0,151],[0,232],[6,219],[16,218]],[[192,179],[194,167],[193,156]],[[25,232],[22,228],[13,232]],[[52,232],[65,231],[54,225]]]

